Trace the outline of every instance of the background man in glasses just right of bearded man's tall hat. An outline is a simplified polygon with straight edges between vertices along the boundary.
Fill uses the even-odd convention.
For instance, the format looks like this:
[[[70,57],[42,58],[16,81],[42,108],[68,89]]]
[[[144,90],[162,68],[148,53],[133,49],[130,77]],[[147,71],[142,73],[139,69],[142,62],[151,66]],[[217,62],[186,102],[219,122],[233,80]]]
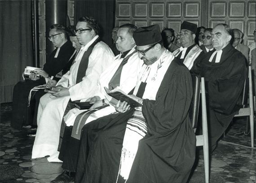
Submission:
[[[172,41],[175,38],[174,30],[172,28],[165,28],[161,32],[163,38],[163,46],[168,49],[170,52],[178,49],[179,47],[176,44],[173,44]]]

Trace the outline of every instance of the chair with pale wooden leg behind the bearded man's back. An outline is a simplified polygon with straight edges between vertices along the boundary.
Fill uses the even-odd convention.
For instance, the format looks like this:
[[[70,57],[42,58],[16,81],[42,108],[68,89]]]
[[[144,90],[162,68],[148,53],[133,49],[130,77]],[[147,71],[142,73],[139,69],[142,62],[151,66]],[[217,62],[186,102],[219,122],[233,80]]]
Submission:
[[[200,76],[191,75],[193,83],[193,98],[190,106],[190,120],[194,132],[196,131],[198,113],[199,113],[199,100],[200,100],[200,86],[201,86],[201,103],[202,103],[202,128],[203,134],[196,135],[196,146],[203,146],[203,161],[204,161],[204,174],[205,174],[205,183],[209,183],[209,147],[208,147],[208,128],[207,128],[207,113],[206,113],[206,99],[205,99],[205,87],[204,87],[204,78],[201,78],[200,85]]]

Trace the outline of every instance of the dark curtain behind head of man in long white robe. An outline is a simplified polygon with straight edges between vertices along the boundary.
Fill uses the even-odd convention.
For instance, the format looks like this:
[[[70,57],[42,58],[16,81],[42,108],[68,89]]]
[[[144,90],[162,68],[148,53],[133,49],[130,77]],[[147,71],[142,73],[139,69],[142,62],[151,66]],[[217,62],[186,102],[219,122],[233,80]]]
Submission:
[[[75,0],[74,25],[79,17],[94,17],[102,26],[101,38],[110,45],[115,26],[115,0]]]

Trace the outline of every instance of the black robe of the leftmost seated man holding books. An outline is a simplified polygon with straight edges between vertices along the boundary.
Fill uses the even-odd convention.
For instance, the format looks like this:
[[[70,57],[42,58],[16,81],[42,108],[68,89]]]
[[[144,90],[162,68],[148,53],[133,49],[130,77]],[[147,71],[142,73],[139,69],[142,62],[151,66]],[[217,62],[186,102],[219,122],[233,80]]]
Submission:
[[[49,76],[55,76],[60,72],[64,65],[69,61],[71,55],[74,52],[72,43],[67,41],[59,50],[57,58],[54,58],[57,48],[49,55],[44,64],[43,70],[49,74]],[[26,107],[28,104],[29,92],[33,87],[45,84],[45,79],[40,78],[36,81],[26,79],[25,81],[18,82],[13,88],[13,110],[11,126],[15,129],[20,130],[22,128]]]

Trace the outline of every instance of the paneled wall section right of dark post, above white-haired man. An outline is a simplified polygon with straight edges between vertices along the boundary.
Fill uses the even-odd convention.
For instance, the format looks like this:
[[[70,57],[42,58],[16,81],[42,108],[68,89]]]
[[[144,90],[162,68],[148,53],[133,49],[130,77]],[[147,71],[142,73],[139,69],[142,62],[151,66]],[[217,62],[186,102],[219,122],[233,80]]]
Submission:
[[[232,29],[244,33],[244,44],[254,42],[253,31],[256,25],[255,0],[209,0],[208,26],[226,23]]]

